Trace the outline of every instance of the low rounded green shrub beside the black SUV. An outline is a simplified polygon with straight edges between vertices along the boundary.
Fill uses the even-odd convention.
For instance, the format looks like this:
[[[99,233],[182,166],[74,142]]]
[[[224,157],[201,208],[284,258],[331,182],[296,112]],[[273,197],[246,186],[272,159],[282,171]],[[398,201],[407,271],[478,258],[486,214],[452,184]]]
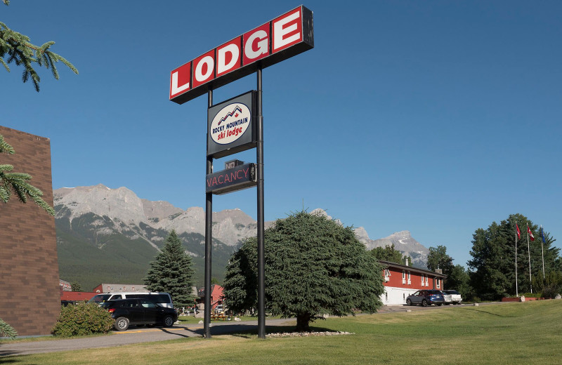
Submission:
[[[57,323],[51,329],[53,336],[84,336],[92,333],[107,333],[114,320],[111,314],[95,303],[67,305],[60,311]]]

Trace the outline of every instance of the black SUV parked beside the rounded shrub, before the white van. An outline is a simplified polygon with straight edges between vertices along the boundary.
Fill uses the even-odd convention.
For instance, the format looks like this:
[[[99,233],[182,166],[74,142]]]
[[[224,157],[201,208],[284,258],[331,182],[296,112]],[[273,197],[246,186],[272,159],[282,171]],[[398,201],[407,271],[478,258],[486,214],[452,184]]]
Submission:
[[[107,300],[100,306],[111,313],[117,331],[126,331],[131,324],[171,327],[178,320],[176,310],[145,299]]]

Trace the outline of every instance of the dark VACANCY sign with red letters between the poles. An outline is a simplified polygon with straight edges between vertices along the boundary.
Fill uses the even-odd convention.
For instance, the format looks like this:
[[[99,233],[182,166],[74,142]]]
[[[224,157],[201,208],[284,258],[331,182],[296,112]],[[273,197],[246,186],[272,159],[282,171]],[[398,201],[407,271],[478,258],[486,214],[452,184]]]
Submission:
[[[216,195],[255,186],[256,165],[244,164],[207,175],[205,191]]]

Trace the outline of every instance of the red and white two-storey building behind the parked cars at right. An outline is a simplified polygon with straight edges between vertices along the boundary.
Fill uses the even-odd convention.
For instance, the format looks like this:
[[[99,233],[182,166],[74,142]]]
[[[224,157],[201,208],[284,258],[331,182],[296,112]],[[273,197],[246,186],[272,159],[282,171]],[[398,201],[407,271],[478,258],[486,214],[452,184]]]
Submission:
[[[381,300],[384,305],[406,304],[407,296],[420,289],[444,289],[443,279],[447,276],[440,272],[389,261],[379,261],[379,263],[383,266],[384,294],[381,296]]]

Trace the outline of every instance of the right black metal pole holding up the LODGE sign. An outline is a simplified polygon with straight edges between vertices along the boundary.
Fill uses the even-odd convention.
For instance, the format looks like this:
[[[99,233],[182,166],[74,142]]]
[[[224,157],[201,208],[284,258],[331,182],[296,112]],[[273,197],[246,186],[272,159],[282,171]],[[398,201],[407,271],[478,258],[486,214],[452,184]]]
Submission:
[[[263,234],[263,115],[261,67],[258,69],[256,173],[258,183],[258,337],[266,338],[266,249]]]

